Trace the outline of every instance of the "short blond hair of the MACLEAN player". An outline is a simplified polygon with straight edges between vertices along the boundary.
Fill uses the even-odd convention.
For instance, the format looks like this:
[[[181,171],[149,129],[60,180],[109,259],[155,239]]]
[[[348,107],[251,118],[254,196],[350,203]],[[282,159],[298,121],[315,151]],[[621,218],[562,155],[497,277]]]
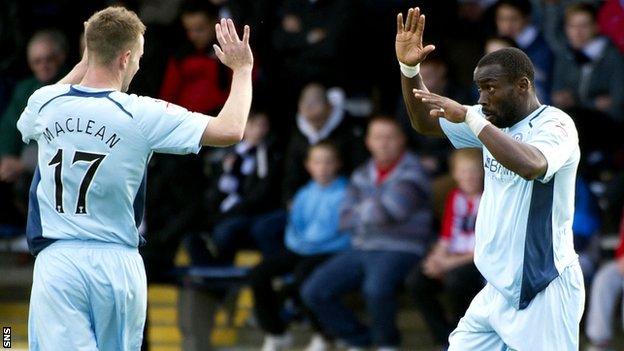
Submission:
[[[126,50],[134,49],[145,25],[133,11],[123,7],[107,7],[89,18],[85,40],[89,59],[110,64]]]

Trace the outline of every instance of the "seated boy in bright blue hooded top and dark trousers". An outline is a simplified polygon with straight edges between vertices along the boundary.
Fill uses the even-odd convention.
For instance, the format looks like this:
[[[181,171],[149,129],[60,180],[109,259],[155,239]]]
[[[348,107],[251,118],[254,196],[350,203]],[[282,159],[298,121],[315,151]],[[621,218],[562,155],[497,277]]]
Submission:
[[[280,300],[273,288],[274,278],[292,273],[294,284],[289,288],[298,295],[299,286],[314,268],[350,245],[348,234],[338,229],[340,206],[348,183],[346,178],[338,175],[338,149],[326,141],[310,146],[305,166],[312,179],[299,189],[290,209],[285,238],[287,251],[264,259],[250,273],[255,315],[266,333],[263,351],[282,349],[292,341],[292,336],[286,333],[286,322],[280,318]],[[309,314],[308,317],[318,333],[320,327],[314,316]],[[310,346],[314,350],[327,348],[319,334]]]

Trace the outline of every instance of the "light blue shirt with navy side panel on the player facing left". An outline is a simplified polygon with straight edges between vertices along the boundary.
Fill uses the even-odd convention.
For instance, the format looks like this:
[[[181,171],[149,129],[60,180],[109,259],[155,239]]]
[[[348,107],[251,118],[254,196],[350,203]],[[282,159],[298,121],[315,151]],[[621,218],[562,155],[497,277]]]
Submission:
[[[470,108],[483,117],[480,105]],[[543,105],[502,129],[546,158],[546,174],[533,181],[498,163],[466,123],[441,118],[440,126],[456,148],[483,149],[485,184],[475,227],[475,264],[512,306],[524,309],[578,260],[572,237],[580,159],[574,122],[563,111]]]

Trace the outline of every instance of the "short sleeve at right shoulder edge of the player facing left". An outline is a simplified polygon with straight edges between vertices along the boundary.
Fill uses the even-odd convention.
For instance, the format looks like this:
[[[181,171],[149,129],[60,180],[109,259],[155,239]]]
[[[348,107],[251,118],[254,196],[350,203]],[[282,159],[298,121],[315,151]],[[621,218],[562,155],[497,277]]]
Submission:
[[[536,131],[527,143],[546,158],[546,174],[539,179],[546,183],[578,149],[578,134],[572,119],[561,114],[544,117],[533,125]]]

